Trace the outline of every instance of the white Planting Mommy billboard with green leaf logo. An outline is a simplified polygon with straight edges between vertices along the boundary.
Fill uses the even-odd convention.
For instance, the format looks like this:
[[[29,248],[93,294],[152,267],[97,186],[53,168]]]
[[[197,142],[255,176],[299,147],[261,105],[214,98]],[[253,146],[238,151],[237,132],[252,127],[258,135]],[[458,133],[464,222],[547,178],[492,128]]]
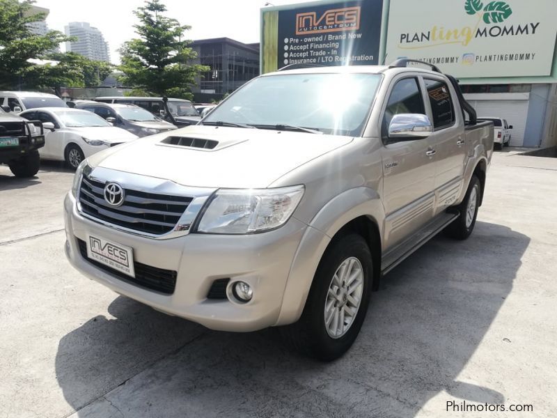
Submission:
[[[391,0],[386,56],[456,77],[551,75],[556,19],[556,0]]]

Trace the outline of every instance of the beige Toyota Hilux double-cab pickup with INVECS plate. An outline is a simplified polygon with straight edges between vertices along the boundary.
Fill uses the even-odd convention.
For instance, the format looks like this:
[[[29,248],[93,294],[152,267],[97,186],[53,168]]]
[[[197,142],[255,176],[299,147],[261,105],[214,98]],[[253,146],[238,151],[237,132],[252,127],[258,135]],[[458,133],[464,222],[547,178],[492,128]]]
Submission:
[[[70,263],[159,311],[283,325],[339,357],[382,274],[439,231],[468,238],[483,200],[493,124],[408,63],[268,73],[199,125],[89,157],[64,203]]]

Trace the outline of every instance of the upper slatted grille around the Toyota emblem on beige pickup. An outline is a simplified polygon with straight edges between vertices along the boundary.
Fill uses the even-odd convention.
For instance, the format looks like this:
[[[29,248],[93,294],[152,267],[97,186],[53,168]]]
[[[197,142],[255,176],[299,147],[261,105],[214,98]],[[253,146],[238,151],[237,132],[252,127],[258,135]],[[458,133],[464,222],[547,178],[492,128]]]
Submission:
[[[105,183],[83,177],[79,188],[81,211],[101,221],[153,235],[172,231],[192,200],[124,189],[124,203],[115,208],[104,199],[104,186]]]

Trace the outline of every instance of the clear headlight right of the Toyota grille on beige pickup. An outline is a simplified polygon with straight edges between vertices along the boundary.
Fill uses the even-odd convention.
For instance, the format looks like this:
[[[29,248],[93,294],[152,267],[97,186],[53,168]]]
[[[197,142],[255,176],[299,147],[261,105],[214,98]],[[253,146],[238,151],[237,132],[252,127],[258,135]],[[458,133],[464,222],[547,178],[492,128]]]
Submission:
[[[219,189],[201,218],[198,232],[243,234],[285,224],[300,203],[304,186],[276,189]]]

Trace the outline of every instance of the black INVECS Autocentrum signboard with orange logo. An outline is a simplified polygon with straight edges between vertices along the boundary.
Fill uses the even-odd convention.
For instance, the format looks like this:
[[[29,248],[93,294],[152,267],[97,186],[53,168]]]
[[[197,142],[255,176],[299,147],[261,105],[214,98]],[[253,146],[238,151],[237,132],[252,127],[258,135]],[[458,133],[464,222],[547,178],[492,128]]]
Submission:
[[[382,11],[383,0],[262,9],[262,72],[290,64],[377,64]]]

